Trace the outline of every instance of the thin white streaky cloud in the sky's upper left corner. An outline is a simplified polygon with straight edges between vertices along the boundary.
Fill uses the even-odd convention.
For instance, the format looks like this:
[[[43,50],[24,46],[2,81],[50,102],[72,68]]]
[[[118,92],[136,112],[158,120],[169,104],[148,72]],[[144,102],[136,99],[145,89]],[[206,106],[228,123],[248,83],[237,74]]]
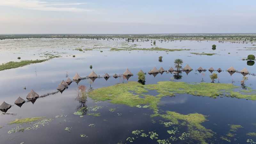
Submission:
[[[82,5],[86,3],[52,3],[39,0],[0,0],[0,6],[11,6],[39,11],[60,11],[60,12],[88,12],[91,10],[76,7],[61,7],[71,5]]]

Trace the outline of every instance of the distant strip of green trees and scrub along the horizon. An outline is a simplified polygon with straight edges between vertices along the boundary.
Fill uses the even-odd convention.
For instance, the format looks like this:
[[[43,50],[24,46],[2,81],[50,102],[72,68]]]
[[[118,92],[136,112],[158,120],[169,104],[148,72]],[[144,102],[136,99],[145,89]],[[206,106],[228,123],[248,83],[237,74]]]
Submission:
[[[0,40],[23,39],[23,38],[74,38],[74,39],[96,39],[115,40],[125,39],[126,41],[148,41],[156,39],[159,41],[170,40],[196,40],[196,41],[242,41],[255,42],[256,34],[116,34],[116,35],[96,35],[96,34],[27,34],[27,35],[0,35]]]

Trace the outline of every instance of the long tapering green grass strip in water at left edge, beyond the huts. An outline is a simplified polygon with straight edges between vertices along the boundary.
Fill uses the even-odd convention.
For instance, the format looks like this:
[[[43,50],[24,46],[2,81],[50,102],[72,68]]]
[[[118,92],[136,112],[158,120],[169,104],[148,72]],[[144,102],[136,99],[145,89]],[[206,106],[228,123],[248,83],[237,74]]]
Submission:
[[[49,59],[45,59],[45,60],[22,60],[22,61],[19,61],[19,62],[9,61],[5,64],[0,65],[0,71],[5,70],[5,69],[11,69],[11,68],[19,68],[19,67],[23,67],[23,66],[30,65],[30,64],[33,64],[33,63],[40,63],[40,62],[44,62],[46,60],[49,60]]]

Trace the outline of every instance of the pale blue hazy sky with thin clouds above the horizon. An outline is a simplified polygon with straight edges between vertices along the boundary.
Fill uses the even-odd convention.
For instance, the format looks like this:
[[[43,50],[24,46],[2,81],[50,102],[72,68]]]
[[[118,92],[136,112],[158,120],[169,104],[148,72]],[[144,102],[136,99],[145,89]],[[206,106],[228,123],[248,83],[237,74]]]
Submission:
[[[256,0],[0,0],[0,34],[256,33]]]

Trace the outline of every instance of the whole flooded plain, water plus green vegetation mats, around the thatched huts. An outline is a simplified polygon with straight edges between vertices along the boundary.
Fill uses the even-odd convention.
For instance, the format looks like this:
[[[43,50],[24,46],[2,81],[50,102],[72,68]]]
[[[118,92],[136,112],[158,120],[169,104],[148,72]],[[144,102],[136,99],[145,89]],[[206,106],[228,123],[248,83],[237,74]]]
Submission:
[[[255,44],[1,40],[0,103],[11,108],[0,115],[0,143],[255,143],[256,68],[246,60],[255,55]],[[168,72],[176,69],[175,59],[193,70]],[[227,71],[231,66],[236,72]],[[149,75],[154,67],[166,71]],[[122,76],[126,68],[133,76]],[[249,74],[240,73],[243,68]],[[92,70],[98,78],[87,77]],[[140,70],[146,73],[145,84],[138,82]],[[76,72],[81,80],[56,90]],[[214,83],[212,74],[218,76]],[[27,100],[31,89],[39,97]],[[19,97],[25,102],[14,104]]]

